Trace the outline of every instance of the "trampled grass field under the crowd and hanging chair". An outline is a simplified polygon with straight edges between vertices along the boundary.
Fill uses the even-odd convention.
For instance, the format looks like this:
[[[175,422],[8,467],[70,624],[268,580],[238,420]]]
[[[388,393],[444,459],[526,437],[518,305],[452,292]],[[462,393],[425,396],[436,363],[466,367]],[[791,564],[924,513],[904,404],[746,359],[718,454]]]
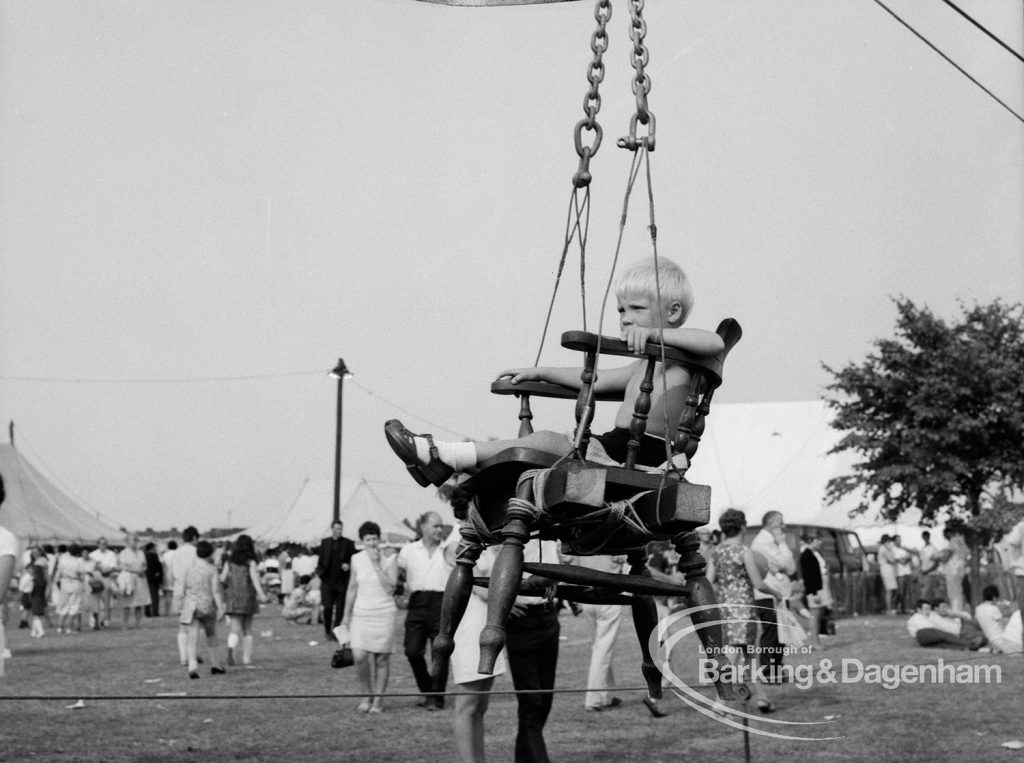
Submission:
[[[47,635],[9,633],[14,656],[0,678],[0,760],[3,761],[450,761],[455,760],[452,713],[426,713],[412,695],[393,696],[377,716],[355,712],[352,669],[329,667],[332,647],[318,627],[295,626],[264,607],[256,622],[256,667],[188,680],[177,664],[171,618],[146,621],[141,631]],[[546,737],[553,761],[742,761],[743,733],[707,718],[667,693],[669,717],[652,718],[637,665],[632,624],[624,622],[615,672],[621,708],[586,713],[583,695],[555,697]],[[586,685],[590,655],[583,619],[562,613],[558,688]],[[310,645],[310,641],[319,641]],[[913,646],[902,618],[865,617],[839,623],[824,651],[795,655],[795,665],[831,660],[871,664],[998,668],[998,681],[943,684],[815,682],[774,689],[782,721],[814,726],[752,728],[810,737],[787,740],[750,734],[755,761],[989,761],[1021,760],[1000,747],[1024,739],[1024,660]],[[391,691],[415,692],[402,654],[392,661]],[[684,641],[674,653],[677,673],[695,677],[695,652]],[[496,690],[511,689],[508,676]],[[29,700],[26,696],[52,697]],[[84,707],[69,706],[82,700]],[[512,760],[515,700],[492,697],[487,749],[492,761]],[[820,740],[839,736],[834,740]]]

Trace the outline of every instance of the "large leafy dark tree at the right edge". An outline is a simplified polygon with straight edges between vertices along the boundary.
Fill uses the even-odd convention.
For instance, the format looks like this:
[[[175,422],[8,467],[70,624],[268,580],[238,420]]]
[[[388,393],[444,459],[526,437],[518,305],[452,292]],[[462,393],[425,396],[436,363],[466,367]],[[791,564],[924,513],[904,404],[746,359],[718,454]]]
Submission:
[[[833,453],[863,456],[826,497],[859,493],[861,512],[895,520],[918,508],[923,524],[963,525],[977,598],[979,541],[1006,529],[1014,512],[1004,508],[1024,489],[1024,307],[961,304],[961,322],[947,324],[893,301],[894,339],[876,340],[859,365],[825,366],[833,426],[846,432]]]

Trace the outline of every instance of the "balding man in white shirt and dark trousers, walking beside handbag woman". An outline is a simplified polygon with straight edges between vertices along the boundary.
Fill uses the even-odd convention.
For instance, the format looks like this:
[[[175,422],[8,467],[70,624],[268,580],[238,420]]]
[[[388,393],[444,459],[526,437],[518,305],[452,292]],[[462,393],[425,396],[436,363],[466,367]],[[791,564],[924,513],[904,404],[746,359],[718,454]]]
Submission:
[[[416,685],[423,692],[418,706],[426,710],[444,708],[444,686],[447,667],[435,678],[427,670],[427,644],[433,643],[441,624],[441,601],[447,585],[452,565],[444,559],[444,525],[440,514],[428,511],[417,524],[420,540],[402,546],[398,552],[399,575],[404,575],[406,592],[409,594],[409,611],[406,614],[406,658],[413,669]],[[453,533],[445,542],[458,543],[459,534]]]

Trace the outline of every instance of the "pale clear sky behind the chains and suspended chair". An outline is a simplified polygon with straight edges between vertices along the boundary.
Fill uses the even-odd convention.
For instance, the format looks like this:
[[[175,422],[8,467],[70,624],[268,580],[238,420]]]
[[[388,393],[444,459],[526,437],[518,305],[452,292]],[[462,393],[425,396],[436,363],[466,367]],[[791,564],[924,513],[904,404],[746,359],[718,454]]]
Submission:
[[[1018,58],[943,3],[886,4],[1024,115]],[[1024,52],[1020,0],[957,5]],[[896,296],[950,320],[1024,301],[1024,123],[877,2],[644,15],[658,254],[694,284],[689,325],[743,327],[719,404],[820,397],[824,366],[892,334]],[[16,447],[115,526],[247,526],[332,478],[342,357],[343,477],[432,505],[383,423],[514,434],[488,384],[541,344],[594,27],[589,0],[0,2]],[[586,316],[614,334],[626,3],[608,34]],[[648,222],[638,185],[621,267]],[[579,282],[570,252],[543,365],[577,362],[557,338],[583,326]]]

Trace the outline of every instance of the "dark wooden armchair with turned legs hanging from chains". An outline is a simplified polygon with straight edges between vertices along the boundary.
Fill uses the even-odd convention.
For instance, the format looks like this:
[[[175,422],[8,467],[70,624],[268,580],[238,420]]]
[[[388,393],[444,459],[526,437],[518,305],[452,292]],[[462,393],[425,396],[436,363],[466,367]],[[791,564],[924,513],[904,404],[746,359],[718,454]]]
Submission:
[[[575,450],[568,457],[527,448],[503,451],[479,465],[477,472],[460,484],[470,500],[469,522],[461,529],[456,567],[449,578],[441,609],[438,636],[434,639],[433,666],[440,670],[454,649],[453,634],[462,620],[474,583],[487,585],[487,622],[480,633],[479,672],[494,670],[505,644],[505,624],[517,595],[540,595],[569,601],[629,604],[643,661],[641,671],[650,695],[662,695],[662,676],[651,659],[649,640],[657,622],[652,595],[685,597],[689,606],[715,604],[715,594],[705,577],[705,559],[697,549],[694,531],[707,524],[711,511],[711,489],[687,482],[671,464],[664,471],[636,467],[640,440],[647,425],[656,364],[663,357],[685,368],[691,383],[672,452],[692,459],[711,411],[712,396],[722,383],[726,355],[742,334],[732,319],[718,327],[725,348],[715,357],[696,357],[648,342],[644,379],[634,404],[630,424],[628,459],[623,466],[605,466],[586,460],[590,423],[595,399],[622,399],[592,394],[597,355],[635,358],[625,342],[582,331],[562,335],[562,346],[584,353],[581,389],[546,382],[492,384],[497,394],[520,398],[520,436],[532,431],[529,399],[534,395],[575,399]],[[529,538],[558,540],[572,555],[625,555],[628,575],[610,575],[564,564],[523,563],[523,545]],[[654,540],[671,541],[679,553],[679,569],[685,585],[655,581],[646,566],[646,545]],[[501,544],[489,581],[474,580],[473,566],[484,547]],[[536,576],[539,585],[521,586],[523,573]],[[718,609],[694,613],[695,623],[719,620]],[[709,654],[721,654],[722,636],[717,625],[706,626],[699,636]],[[721,672],[720,672],[721,673]],[[721,698],[733,696],[731,686],[718,686]]]

